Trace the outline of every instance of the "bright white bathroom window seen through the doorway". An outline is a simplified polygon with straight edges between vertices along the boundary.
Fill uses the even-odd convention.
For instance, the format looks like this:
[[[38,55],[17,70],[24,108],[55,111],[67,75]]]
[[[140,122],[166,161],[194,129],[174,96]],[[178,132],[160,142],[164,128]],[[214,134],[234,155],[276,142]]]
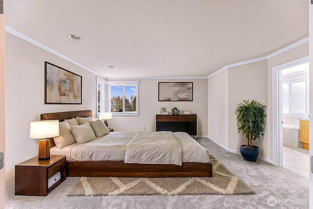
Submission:
[[[287,76],[283,78],[283,115],[309,115],[309,75]]]

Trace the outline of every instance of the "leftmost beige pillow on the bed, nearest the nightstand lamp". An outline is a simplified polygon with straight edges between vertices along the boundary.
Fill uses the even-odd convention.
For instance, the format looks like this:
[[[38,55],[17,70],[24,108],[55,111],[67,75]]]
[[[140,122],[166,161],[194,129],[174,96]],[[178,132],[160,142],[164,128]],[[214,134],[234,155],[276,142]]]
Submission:
[[[62,149],[67,145],[76,143],[67,121],[59,122],[59,127],[60,135],[57,137],[53,137],[54,143],[59,149]]]

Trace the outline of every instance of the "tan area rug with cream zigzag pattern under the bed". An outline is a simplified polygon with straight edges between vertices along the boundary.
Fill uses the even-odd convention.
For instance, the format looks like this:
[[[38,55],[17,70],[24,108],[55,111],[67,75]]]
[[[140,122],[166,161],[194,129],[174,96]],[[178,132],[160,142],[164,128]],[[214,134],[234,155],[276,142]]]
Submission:
[[[67,196],[254,194],[213,156],[213,177],[81,177]]]

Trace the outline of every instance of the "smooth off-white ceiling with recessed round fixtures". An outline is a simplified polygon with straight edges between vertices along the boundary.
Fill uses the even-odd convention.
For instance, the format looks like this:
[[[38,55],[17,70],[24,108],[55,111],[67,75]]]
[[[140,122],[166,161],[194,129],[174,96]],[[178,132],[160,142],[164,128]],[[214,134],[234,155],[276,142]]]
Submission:
[[[208,76],[309,36],[303,0],[5,0],[4,13],[6,25],[106,77]]]

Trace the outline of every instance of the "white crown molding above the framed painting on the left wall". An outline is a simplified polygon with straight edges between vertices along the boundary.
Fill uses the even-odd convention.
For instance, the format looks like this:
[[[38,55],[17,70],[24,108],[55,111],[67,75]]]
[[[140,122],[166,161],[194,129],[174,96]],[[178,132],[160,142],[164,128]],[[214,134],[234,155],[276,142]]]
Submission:
[[[102,75],[102,74],[100,74],[100,73],[97,73],[97,72],[95,72],[95,71],[93,71],[93,70],[87,68],[86,66],[84,66],[84,65],[82,65],[82,64],[80,64],[80,63],[78,63],[78,62],[76,62],[76,61],[74,61],[74,60],[68,58],[67,56],[65,56],[65,55],[63,55],[63,54],[57,52],[56,50],[54,50],[54,49],[52,49],[52,48],[50,48],[50,47],[48,47],[48,46],[43,45],[42,43],[40,43],[40,42],[38,42],[38,41],[36,41],[36,40],[34,40],[34,39],[32,39],[32,38],[26,36],[25,34],[21,33],[20,31],[15,30],[14,28],[12,28],[12,27],[10,27],[10,26],[8,26],[8,25],[5,25],[5,31],[8,32],[8,33],[13,34],[13,35],[15,35],[15,36],[17,36],[17,37],[19,37],[19,38],[25,40],[25,41],[27,41],[27,42],[29,42],[29,43],[35,45],[35,46],[38,46],[38,47],[40,47],[40,48],[42,48],[42,49],[45,49],[46,51],[48,51],[48,52],[50,52],[50,53],[52,53],[52,54],[54,54],[54,55],[57,55],[58,57],[61,57],[62,59],[65,59],[65,60],[67,60],[68,62],[71,62],[71,63],[77,65],[77,66],[80,67],[80,68],[83,68],[83,69],[85,69],[85,70],[88,70],[89,72],[92,72],[93,74],[95,74],[95,75],[97,75],[97,76],[99,76],[99,77],[102,77],[102,78],[104,78],[104,79],[107,78],[106,76],[104,76],[104,75]]]

